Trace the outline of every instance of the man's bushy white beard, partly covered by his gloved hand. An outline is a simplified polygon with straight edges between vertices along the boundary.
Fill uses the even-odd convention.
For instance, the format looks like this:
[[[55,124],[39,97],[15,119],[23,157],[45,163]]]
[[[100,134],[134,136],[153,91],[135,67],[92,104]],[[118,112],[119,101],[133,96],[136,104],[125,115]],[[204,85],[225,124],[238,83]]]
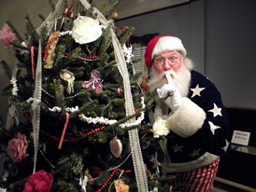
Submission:
[[[174,72],[173,70],[168,71],[182,97],[186,97],[189,93],[192,70],[192,61],[185,59],[184,62],[185,64],[178,70],[178,72]],[[164,73],[159,74],[154,70],[154,68],[150,69],[149,77],[150,93],[154,92],[155,89],[162,88],[164,84],[167,83]]]

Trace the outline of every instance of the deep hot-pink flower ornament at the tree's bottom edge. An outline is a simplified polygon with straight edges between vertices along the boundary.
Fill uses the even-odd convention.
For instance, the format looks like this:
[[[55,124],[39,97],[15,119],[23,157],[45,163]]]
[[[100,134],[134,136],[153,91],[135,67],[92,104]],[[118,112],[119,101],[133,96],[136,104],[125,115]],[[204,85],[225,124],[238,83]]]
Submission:
[[[50,192],[53,176],[50,172],[37,171],[26,181],[24,192]]]

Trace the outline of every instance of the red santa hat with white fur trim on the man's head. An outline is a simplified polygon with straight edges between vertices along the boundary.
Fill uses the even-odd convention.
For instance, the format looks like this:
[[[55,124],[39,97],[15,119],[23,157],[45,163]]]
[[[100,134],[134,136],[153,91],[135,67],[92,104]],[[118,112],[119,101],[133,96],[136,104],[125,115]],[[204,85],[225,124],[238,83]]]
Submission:
[[[179,50],[184,56],[187,55],[187,50],[183,47],[181,40],[176,36],[159,35],[152,38],[145,52],[145,61],[148,68],[152,66],[152,60],[155,55],[168,50]]]

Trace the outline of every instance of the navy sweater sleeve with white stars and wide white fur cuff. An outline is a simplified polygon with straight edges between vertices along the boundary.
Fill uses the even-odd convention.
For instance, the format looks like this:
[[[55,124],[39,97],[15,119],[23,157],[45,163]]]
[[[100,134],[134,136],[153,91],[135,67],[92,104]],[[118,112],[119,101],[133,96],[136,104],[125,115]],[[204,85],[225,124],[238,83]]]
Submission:
[[[192,137],[207,152],[220,156],[231,140],[220,91],[198,73],[192,74],[190,90],[179,109],[168,117],[166,126],[180,137]]]

